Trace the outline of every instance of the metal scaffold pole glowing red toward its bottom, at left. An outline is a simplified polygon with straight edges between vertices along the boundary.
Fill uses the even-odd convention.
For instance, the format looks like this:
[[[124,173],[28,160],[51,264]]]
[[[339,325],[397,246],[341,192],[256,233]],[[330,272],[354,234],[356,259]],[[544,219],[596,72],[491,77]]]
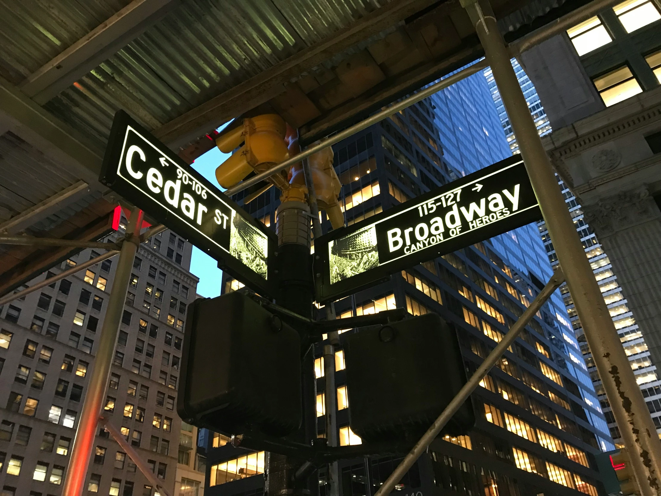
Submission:
[[[128,290],[137,247],[140,243],[139,232],[142,217],[142,210],[134,208],[126,229],[126,238],[122,243],[110,298],[108,298],[108,308],[101,328],[97,355],[92,366],[92,376],[87,386],[83,411],[73,440],[69,470],[67,470],[62,490],[63,496],[81,496],[85,484],[89,458],[97,435],[98,417],[106,393],[115,343],[120,329],[120,320],[124,312],[126,291]]]

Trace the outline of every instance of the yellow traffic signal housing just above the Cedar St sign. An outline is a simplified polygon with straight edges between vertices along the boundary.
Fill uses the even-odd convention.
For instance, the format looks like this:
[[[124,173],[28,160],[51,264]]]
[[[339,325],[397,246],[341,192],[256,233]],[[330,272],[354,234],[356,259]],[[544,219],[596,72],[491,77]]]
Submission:
[[[252,171],[262,172],[289,158],[284,140],[287,124],[278,114],[262,114],[243,119],[243,126],[221,134],[215,144],[223,153],[235,151],[215,169],[215,178],[223,188],[231,188]],[[289,188],[286,175],[276,174],[269,180],[281,190]]]

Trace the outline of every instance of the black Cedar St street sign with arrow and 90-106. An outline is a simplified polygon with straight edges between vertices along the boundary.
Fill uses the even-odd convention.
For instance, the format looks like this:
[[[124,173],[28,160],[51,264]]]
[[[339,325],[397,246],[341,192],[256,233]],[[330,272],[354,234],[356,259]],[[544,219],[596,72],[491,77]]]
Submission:
[[[115,114],[100,181],[218,261],[274,295],[276,235],[227,198],[126,112]]]

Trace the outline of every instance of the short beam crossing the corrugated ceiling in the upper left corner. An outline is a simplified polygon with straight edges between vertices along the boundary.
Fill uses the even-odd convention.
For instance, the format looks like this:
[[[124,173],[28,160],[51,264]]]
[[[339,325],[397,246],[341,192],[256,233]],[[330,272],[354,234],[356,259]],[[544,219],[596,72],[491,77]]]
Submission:
[[[107,60],[145,29],[160,21],[180,0],[133,0],[20,84],[20,89],[43,105]]]

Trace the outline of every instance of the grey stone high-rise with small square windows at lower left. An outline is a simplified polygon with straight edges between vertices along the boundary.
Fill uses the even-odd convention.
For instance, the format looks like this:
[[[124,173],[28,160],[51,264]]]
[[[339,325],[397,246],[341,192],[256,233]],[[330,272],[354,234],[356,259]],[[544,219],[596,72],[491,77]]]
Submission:
[[[125,228],[122,217],[117,233],[107,239],[120,237]],[[181,431],[175,402],[184,315],[198,282],[188,271],[191,249],[190,243],[171,231],[140,245],[102,412],[171,493]],[[37,280],[98,255],[84,249]],[[2,309],[3,496],[61,492],[115,269],[116,259],[107,259]],[[103,427],[95,440],[85,491],[113,496],[155,494]]]

